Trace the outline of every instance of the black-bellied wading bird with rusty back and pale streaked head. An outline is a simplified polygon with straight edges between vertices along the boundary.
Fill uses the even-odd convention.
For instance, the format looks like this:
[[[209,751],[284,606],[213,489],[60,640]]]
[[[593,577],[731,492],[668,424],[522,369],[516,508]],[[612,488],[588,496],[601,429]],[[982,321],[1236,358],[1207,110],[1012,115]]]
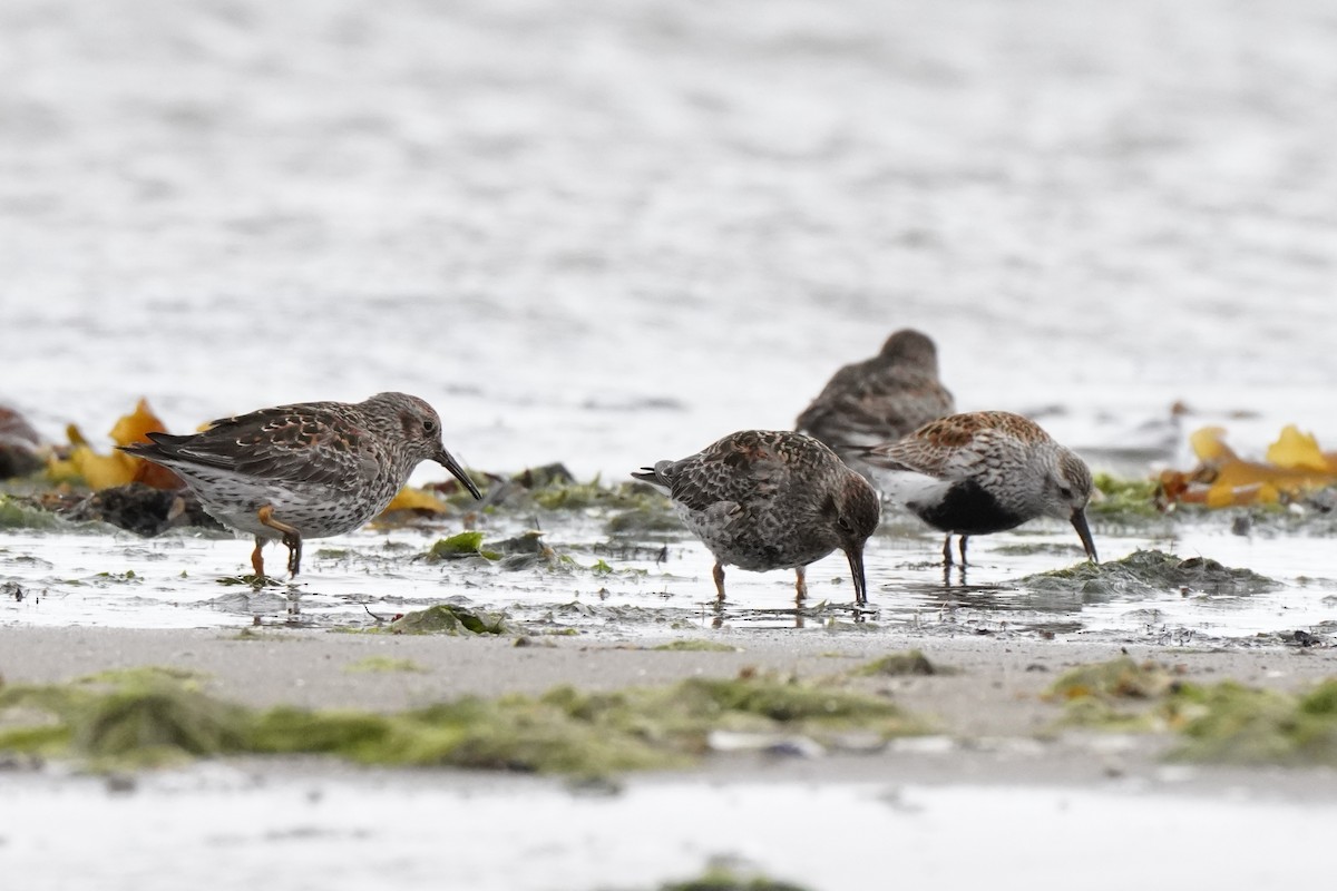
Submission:
[[[906,437],[864,452],[877,482],[928,525],[947,533],[943,561],[952,564],[952,536],[965,541],[1036,517],[1067,520],[1096,562],[1087,526],[1091,470],[1038,423],[1009,411],[969,411],[925,423]]]

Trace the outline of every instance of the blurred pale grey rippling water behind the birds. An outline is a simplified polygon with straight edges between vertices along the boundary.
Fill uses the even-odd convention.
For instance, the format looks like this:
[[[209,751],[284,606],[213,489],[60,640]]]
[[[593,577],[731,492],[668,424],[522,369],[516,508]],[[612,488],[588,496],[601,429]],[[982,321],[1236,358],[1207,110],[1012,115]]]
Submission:
[[[1174,461],[1177,401],[1333,448],[1334,45],[1322,0],[5,0],[0,401],[402,389],[614,478],[915,326],[1079,449]]]

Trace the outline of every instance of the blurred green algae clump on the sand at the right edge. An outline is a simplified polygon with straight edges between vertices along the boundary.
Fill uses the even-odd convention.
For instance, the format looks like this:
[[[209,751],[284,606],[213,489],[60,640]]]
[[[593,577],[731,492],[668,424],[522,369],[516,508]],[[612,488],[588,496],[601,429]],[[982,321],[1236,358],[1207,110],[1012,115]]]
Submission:
[[[1046,695],[1067,727],[1174,731],[1171,760],[1337,767],[1337,679],[1304,693],[1193,684],[1158,663],[1116,659],[1059,677]]]

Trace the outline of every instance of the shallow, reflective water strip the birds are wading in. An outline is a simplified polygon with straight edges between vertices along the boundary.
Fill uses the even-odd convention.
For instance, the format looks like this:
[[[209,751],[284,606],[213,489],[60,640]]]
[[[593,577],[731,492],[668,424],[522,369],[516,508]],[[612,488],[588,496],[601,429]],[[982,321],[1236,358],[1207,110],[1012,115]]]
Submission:
[[[11,532],[0,546],[0,577],[17,586],[0,600],[0,624],[128,628],[243,627],[372,628],[444,600],[501,610],[517,631],[575,629],[598,635],[697,629],[735,635],[755,628],[915,631],[924,635],[1025,635],[1163,644],[1275,644],[1296,631],[1326,640],[1333,632],[1337,580],[1330,540],[1234,536],[1215,524],[1166,525],[1155,534],[1100,536],[1104,560],[1136,549],[1207,557],[1275,581],[1262,590],[1175,586],[1059,590],[1023,581],[1076,564],[1071,529],[1032,524],[1021,532],[976,537],[971,565],[945,572],[940,538],[892,521],[870,540],[866,570],[872,612],[853,610],[849,568],[836,554],[809,568],[809,597],[796,609],[793,573],[727,573],[719,606],[713,558],[685,537],[618,542],[580,516],[544,518],[544,541],[559,554],[519,569],[469,557],[424,560],[449,526],[364,530],[309,542],[303,573],[257,590],[250,542],[191,532],[158,538],[127,533]],[[495,518],[496,541],[520,532]],[[487,546],[487,544],[484,545]],[[269,560],[282,549],[270,548]],[[856,620],[858,620],[856,622]]]

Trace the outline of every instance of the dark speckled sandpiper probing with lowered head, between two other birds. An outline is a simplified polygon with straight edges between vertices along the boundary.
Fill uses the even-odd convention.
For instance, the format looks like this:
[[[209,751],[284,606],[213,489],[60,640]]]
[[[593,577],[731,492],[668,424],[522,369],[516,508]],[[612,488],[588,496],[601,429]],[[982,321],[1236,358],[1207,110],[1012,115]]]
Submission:
[[[715,556],[725,598],[725,566],[751,572],[804,569],[840,548],[849,558],[854,601],[868,602],[864,544],[877,529],[877,493],[813,437],[739,430],[682,461],[659,461],[632,477],[673,498],[678,517]]]

